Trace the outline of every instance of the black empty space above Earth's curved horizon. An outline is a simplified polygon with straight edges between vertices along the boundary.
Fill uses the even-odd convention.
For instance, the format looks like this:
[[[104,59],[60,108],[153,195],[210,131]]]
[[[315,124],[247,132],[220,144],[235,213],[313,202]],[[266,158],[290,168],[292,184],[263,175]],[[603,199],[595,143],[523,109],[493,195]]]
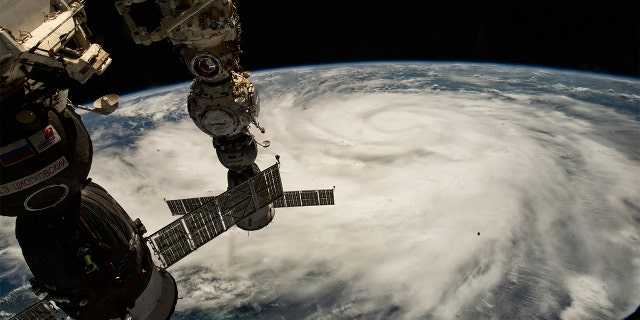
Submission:
[[[477,61],[639,77],[638,1],[589,2],[236,0],[241,64],[256,71],[348,61]],[[168,42],[135,45],[111,1],[85,4],[93,40],[114,61],[102,76],[72,88],[74,102],[192,78]]]

